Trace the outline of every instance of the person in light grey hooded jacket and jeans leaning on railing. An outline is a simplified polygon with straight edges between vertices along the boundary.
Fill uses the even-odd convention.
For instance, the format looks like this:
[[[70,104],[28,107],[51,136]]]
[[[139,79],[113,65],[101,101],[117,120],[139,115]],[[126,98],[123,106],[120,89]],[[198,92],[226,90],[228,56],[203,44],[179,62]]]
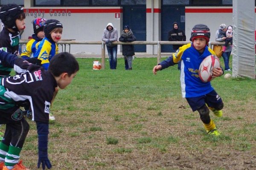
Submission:
[[[116,69],[117,60],[117,45],[113,45],[111,42],[117,41],[118,31],[114,28],[112,23],[108,23],[107,27],[103,31],[102,41],[107,45],[109,65],[111,70]]]

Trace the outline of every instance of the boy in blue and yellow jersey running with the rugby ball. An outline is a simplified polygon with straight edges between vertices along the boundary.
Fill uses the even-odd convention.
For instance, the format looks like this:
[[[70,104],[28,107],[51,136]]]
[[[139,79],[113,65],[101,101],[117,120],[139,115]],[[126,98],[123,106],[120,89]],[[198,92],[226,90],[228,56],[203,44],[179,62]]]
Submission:
[[[221,97],[212,88],[210,82],[202,82],[198,75],[201,62],[207,56],[215,53],[208,48],[210,30],[204,24],[195,25],[192,28],[190,41],[192,43],[183,45],[175,54],[168,59],[154,66],[153,73],[168,68],[169,66],[181,62],[180,82],[182,97],[186,98],[192,111],[198,111],[200,119],[208,134],[219,136],[220,132],[216,129],[214,122],[209,116],[209,109],[218,116],[222,116],[221,109],[223,102]],[[223,75],[223,68],[214,68],[213,77]]]

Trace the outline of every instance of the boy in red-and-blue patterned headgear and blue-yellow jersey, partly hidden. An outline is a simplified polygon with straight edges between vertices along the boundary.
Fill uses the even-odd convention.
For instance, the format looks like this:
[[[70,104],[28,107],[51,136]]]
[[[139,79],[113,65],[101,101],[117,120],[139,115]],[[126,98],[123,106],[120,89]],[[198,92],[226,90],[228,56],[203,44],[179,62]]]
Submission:
[[[29,59],[34,57],[36,52],[36,43],[42,41],[44,38],[44,24],[47,20],[44,18],[37,18],[33,21],[34,34],[32,39],[26,44],[23,53],[20,55],[23,59]],[[41,62],[41,60],[39,60]]]

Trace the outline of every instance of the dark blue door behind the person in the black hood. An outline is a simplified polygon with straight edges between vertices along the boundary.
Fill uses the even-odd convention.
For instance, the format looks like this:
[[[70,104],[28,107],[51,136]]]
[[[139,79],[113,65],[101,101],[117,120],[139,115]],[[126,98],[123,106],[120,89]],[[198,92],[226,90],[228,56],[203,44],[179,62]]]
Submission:
[[[172,23],[177,22],[179,28],[185,32],[185,6],[162,6],[161,9],[161,40],[168,41],[168,32],[172,30]],[[188,38],[186,38],[188,40]],[[174,52],[172,45],[162,45],[161,52]]]

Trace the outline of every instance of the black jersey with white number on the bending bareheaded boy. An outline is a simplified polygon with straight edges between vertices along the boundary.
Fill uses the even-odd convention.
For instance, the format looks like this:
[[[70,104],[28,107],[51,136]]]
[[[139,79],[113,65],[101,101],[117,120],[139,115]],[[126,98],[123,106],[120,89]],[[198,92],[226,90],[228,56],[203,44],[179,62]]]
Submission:
[[[17,73],[13,77],[1,79],[0,84],[6,89],[4,96],[13,99],[19,106],[29,102],[32,120],[48,123],[50,102],[57,87],[52,74],[39,65],[33,65],[5,51],[0,51],[0,61],[6,67],[13,67]]]

